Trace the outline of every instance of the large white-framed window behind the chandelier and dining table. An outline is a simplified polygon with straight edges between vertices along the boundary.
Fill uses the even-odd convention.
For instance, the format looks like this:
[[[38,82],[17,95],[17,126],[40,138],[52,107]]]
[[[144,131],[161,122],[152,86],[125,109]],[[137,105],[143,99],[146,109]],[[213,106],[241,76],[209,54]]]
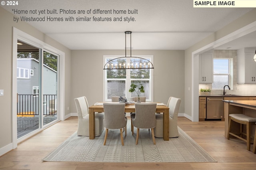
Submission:
[[[118,56],[120,57],[120,56]],[[152,55],[136,56],[153,61]],[[104,65],[111,59],[117,58],[117,56],[104,56]],[[121,64],[122,63],[122,64]],[[142,67],[145,67],[147,63],[143,59],[134,59],[130,57],[113,60],[110,63],[110,67],[140,67],[135,63],[142,63]],[[130,85],[134,83],[136,85],[139,82],[144,86],[145,93],[141,93],[140,96],[146,96],[147,101],[152,101],[153,88],[152,88],[152,74],[153,69],[107,69],[104,70],[104,101],[111,101],[112,96],[125,96],[134,97],[137,96],[135,92],[130,93]]]

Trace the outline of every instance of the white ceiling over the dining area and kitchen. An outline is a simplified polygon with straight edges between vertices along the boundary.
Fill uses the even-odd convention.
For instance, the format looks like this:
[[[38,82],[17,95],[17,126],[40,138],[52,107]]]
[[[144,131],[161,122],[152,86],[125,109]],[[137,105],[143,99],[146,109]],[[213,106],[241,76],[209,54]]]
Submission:
[[[36,29],[69,49],[125,49],[125,31],[132,31],[132,49],[180,49],[194,45],[210,34],[254,8],[193,8],[192,0],[22,0],[18,6],[2,6],[14,10],[36,10],[37,14],[14,14],[19,17],[63,18],[64,21],[28,22]],[[78,14],[78,10],[111,10],[112,14]],[[40,14],[45,10],[46,14]],[[60,14],[64,10],[69,14]],[[72,11],[76,14],[70,14]],[[126,14],[113,14],[115,11]],[[130,10],[133,14],[128,14]],[[47,14],[51,12],[52,14]],[[21,12],[21,11],[19,11]],[[58,14],[56,14],[58,13]],[[90,21],[65,21],[65,17],[91,18]],[[92,21],[92,18],[112,21]],[[113,21],[121,18],[122,21]],[[126,18],[134,21],[125,21]],[[256,47],[256,34],[222,45],[219,49],[241,45]],[[241,38],[242,39],[242,38]],[[254,40],[254,41],[253,41]],[[241,43],[243,42],[243,43]],[[248,44],[244,44],[244,43]],[[245,46],[244,46],[245,47]]]

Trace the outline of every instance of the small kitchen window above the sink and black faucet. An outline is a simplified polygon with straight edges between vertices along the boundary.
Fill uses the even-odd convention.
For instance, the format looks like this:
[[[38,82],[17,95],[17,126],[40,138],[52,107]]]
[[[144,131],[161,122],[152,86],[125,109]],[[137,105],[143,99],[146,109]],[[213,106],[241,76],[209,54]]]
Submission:
[[[230,59],[214,58],[212,89],[223,89],[224,85],[230,85]]]

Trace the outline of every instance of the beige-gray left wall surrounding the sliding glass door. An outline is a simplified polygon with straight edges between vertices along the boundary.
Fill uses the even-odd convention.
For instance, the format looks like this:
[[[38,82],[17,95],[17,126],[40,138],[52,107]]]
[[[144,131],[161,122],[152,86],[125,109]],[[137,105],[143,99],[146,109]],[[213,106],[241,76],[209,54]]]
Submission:
[[[65,53],[65,105],[70,104],[70,62],[71,51],[60,43],[46,36],[26,22],[13,22],[14,15],[0,7],[0,149],[12,144],[12,27],[15,27]],[[65,107],[65,115],[69,111]]]

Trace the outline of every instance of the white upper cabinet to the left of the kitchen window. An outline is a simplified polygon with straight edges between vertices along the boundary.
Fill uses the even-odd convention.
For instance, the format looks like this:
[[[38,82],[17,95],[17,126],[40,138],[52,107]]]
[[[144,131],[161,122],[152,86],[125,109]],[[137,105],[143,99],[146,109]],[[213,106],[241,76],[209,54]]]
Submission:
[[[199,83],[213,82],[213,52],[199,54]]]

